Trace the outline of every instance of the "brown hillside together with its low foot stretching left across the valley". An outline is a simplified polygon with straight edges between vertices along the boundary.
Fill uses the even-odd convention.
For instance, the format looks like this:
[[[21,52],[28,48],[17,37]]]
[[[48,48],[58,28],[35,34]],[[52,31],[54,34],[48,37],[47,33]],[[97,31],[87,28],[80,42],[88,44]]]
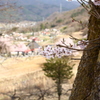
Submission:
[[[71,34],[78,31],[83,31],[83,33],[86,34],[88,18],[89,15],[87,11],[83,7],[79,7],[70,11],[64,11],[62,13],[55,12],[45,20],[35,23],[35,26],[32,26],[32,23],[28,25],[28,22],[26,21],[22,22],[23,25],[25,25],[25,23],[28,25],[26,27],[17,27],[16,25],[18,25],[18,23],[13,23],[15,24],[13,28],[7,28],[7,25],[6,28],[9,29],[7,33],[11,33],[13,31],[27,33],[56,28],[64,34]],[[73,19],[76,21],[73,21]]]

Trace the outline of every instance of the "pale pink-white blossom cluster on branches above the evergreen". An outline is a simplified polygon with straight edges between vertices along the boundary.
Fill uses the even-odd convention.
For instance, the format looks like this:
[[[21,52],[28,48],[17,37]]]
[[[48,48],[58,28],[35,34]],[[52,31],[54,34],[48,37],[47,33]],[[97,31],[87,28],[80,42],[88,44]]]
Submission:
[[[63,45],[65,47],[59,47],[58,44]],[[67,47],[69,48],[67,48]],[[61,39],[55,45],[47,45],[46,47],[40,47],[38,54],[43,55],[47,59],[58,57],[61,58],[63,56],[76,56],[79,54],[77,50],[74,49],[84,49],[87,46],[86,40],[78,41],[77,43],[74,43],[72,39]],[[74,49],[71,49],[74,48]]]

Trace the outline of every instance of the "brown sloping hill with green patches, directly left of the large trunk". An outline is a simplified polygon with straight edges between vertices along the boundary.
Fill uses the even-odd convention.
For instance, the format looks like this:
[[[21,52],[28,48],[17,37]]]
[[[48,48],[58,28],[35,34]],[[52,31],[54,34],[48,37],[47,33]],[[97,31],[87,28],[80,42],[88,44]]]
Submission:
[[[36,27],[34,27],[34,30],[37,31],[45,28],[58,28],[64,33],[72,33],[80,30],[86,31],[88,17],[88,13],[82,7],[62,13],[56,12],[49,16],[46,20],[39,22]],[[76,21],[72,21],[72,18]],[[79,23],[80,21],[82,21],[82,24]]]

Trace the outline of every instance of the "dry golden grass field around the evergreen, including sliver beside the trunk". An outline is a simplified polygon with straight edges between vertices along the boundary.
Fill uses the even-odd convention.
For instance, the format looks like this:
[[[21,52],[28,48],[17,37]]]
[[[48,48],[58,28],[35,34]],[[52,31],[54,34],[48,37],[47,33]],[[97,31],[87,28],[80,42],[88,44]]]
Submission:
[[[13,61],[13,63],[11,63]],[[8,66],[7,66],[8,62]],[[44,73],[41,71],[41,64],[45,62],[43,57],[35,57],[32,59],[8,59],[3,64],[0,70],[0,92],[14,90],[15,88],[23,87],[23,82],[27,81],[27,84],[52,84],[52,81],[48,80]],[[11,63],[11,64],[10,64]],[[74,76],[70,79],[69,83],[73,83],[77,66],[79,61],[74,61],[75,66],[73,68]]]

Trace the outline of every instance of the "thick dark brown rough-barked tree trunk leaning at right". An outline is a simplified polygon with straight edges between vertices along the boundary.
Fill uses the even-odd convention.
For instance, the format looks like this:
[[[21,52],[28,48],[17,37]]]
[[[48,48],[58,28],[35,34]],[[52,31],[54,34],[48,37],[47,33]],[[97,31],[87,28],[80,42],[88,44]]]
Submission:
[[[100,14],[100,6],[96,9]],[[91,15],[88,28],[89,41],[100,37],[100,19]],[[88,51],[83,52],[69,100],[100,100],[100,39],[89,43],[86,49]]]

